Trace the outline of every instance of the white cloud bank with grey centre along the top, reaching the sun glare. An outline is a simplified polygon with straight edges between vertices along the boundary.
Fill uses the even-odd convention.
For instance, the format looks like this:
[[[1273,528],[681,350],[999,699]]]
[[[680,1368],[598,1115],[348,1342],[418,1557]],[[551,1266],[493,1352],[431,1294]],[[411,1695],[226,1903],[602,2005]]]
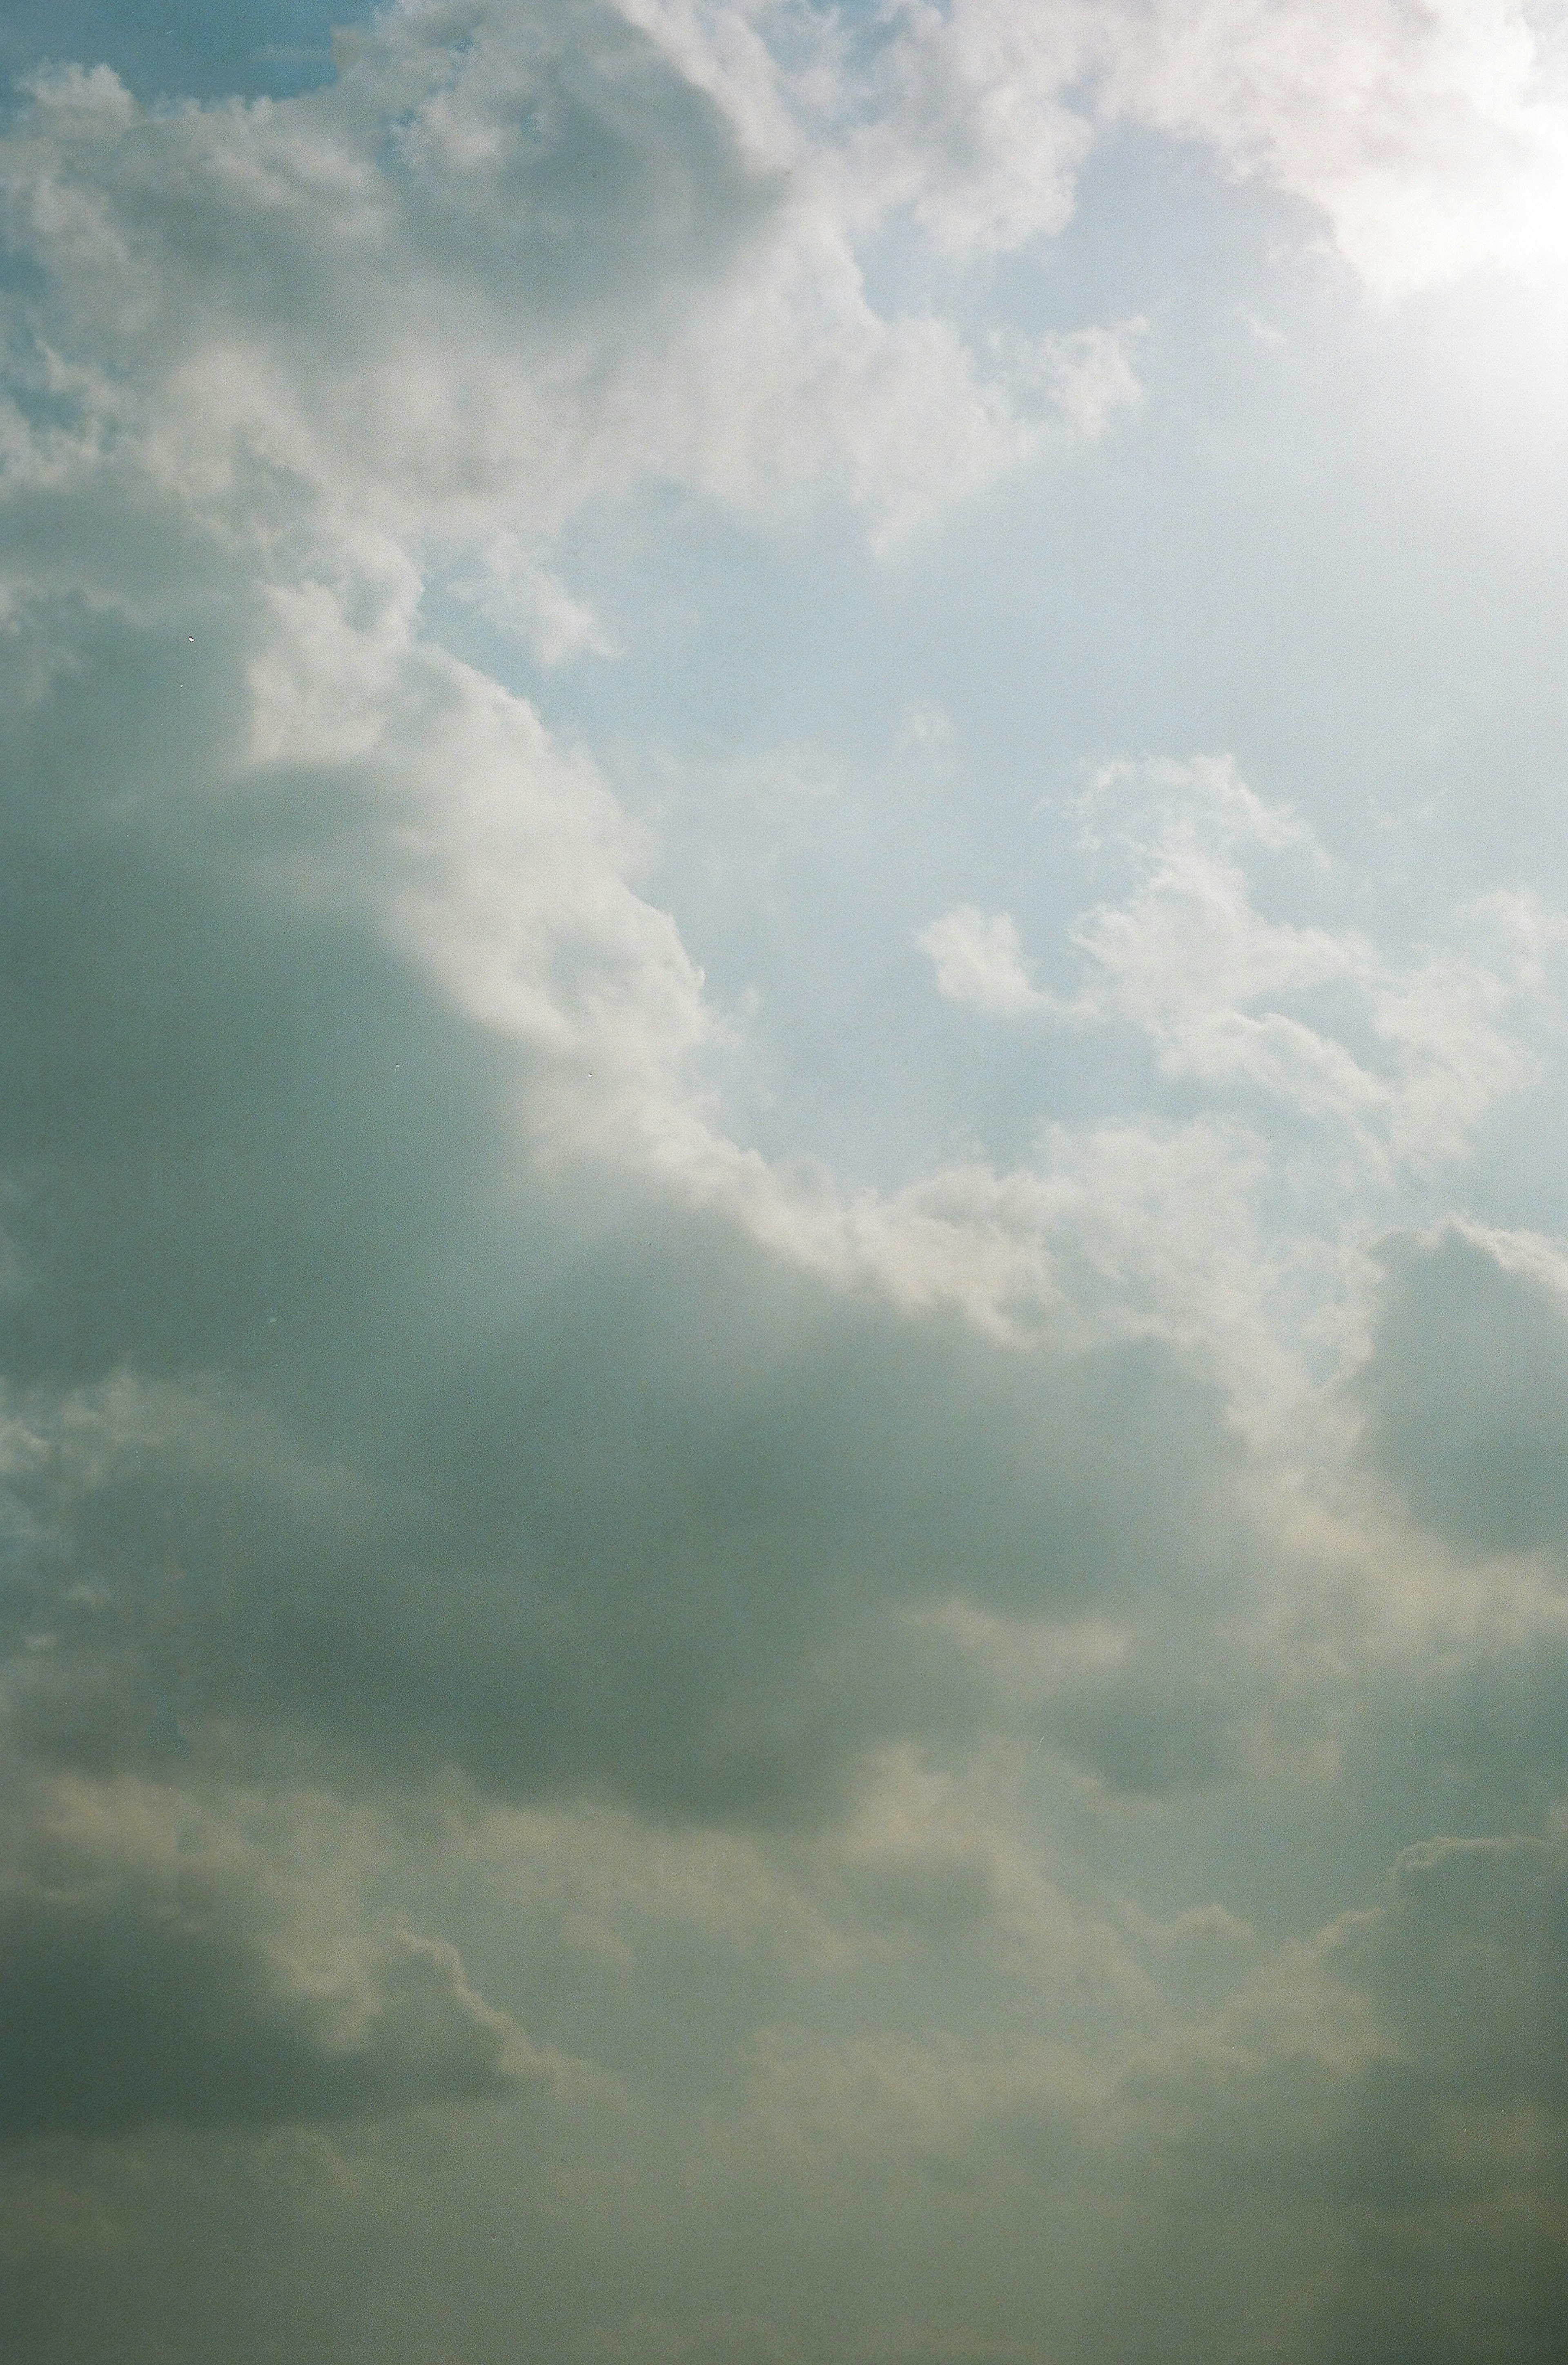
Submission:
[[[0,173],[45,274],[12,315],[54,376],[14,452],[57,478],[140,452],[208,511],[293,485],[317,530],[454,544],[546,544],[650,473],[762,511],[830,487],[896,534],[1052,421],[1102,433],[1138,402],[1142,324],[981,352],[941,315],[885,317],[861,251],[889,208],[939,251],[1050,237],[1133,121],[1419,284],[1551,218],[1561,125],[1533,73],[1504,7],[1346,33],[1277,0],[963,0],[896,12],[863,54],[828,26],[804,57],[769,14],[407,0],[322,90],[151,114],[106,66],[59,69]],[[534,627],[551,648],[584,631],[565,598]]]

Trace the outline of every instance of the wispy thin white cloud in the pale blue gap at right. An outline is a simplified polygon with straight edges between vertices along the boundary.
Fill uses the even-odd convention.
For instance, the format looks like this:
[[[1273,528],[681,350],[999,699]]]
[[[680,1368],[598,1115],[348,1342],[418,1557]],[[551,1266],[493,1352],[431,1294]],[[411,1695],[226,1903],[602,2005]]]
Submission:
[[[1074,922],[1078,991],[1034,986],[1012,918],[965,903],[918,937],[939,993],[1003,1017],[1133,1026],[1164,1074],[1284,1102],[1341,1128],[1372,1168],[1466,1154],[1488,1109],[1530,1081],[1533,1055],[1507,1022],[1542,1000],[1547,925],[1478,906],[1466,915],[1478,934],[1497,922],[1490,960],[1440,951],[1402,965],[1360,929],[1256,908],[1244,849],[1324,856],[1227,762],[1156,764],[1142,778],[1112,766],[1086,799],[1093,849],[1119,802],[1109,844],[1135,885]],[[1301,1015],[1313,1005],[1327,1005],[1327,1024]]]

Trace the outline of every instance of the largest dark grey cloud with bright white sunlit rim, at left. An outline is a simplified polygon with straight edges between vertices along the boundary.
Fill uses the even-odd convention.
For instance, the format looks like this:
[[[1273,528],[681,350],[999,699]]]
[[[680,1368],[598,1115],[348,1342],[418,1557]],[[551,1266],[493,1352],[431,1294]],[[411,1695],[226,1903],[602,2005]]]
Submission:
[[[821,1819],[974,1717],[908,1608],[1232,1582],[1239,1450],[1138,1251],[1062,1180],[743,1152],[594,766],[395,551],[277,582],[187,527],[66,539],[0,650],[26,1745]]]

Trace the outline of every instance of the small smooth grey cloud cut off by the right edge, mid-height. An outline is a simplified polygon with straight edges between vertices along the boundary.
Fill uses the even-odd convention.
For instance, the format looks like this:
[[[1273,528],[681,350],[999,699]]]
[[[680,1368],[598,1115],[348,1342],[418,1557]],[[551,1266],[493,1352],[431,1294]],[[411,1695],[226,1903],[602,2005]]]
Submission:
[[[1568,1547],[1568,1294],[1459,1227],[1386,1249],[1367,1452],[1469,1551]]]

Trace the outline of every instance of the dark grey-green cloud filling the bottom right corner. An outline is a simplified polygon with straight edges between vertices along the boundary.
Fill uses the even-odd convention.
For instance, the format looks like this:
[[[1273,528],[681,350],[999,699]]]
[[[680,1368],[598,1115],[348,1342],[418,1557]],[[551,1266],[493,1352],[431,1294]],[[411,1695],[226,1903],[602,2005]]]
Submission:
[[[1566,1894],[1554,1840],[1424,1842],[1123,2069],[1140,2233],[1069,2353],[1213,2353],[1239,2320],[1239,2353],[1301,2365],[1561,2356]]]

